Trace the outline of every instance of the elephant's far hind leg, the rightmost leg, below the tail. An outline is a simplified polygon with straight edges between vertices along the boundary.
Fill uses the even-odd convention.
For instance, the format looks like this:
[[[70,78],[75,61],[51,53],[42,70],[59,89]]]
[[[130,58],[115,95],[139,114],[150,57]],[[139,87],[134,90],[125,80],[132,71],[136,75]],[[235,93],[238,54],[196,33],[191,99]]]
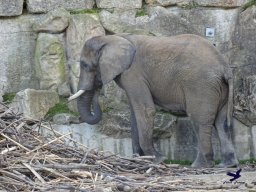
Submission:
[[[221,163],[218,167],[236,167],[238,160],[232,143],[231,127],[227,126],[226,119],[227,104],[222,107],[215,121],[221,149]]]

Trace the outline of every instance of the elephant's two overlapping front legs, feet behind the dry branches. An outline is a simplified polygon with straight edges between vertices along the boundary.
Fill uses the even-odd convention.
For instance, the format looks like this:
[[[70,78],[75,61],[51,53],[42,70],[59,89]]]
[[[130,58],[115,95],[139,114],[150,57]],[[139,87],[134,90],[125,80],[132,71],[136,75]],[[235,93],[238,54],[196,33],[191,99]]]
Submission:
[[[135,81],[134,78],[128,78],[128,76],[122,77],[121,83],[136,120],[137,129],[133,127],[135,129],[132,133],[132,140],[136,146],[138,138],[139,146],[136,146],[135,153],[141,149],[143,155],[153,155],[156,157],[155,162],[161,162],[163,156],[153,146],[155,105],[150,90],[143,81]]]

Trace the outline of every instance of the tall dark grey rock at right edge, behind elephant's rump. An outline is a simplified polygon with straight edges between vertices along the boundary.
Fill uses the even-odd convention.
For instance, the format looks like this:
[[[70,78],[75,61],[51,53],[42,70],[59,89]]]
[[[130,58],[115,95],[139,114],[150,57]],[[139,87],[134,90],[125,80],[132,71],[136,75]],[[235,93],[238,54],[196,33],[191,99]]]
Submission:
[[[235,117],[248,126],[256,123],[256,6],[239,14],[232,37]]]

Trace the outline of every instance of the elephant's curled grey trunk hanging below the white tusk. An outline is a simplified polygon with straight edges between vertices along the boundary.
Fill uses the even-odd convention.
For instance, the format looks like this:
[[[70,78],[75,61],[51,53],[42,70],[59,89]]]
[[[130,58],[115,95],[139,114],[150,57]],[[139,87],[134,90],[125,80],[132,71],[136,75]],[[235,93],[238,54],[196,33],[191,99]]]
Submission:
[[[77,99],[80,121],[94,125],[101,120],[102,111],[98,102],[98,91],[86,91]],[[92,110],[91,110],[92,106]]]

